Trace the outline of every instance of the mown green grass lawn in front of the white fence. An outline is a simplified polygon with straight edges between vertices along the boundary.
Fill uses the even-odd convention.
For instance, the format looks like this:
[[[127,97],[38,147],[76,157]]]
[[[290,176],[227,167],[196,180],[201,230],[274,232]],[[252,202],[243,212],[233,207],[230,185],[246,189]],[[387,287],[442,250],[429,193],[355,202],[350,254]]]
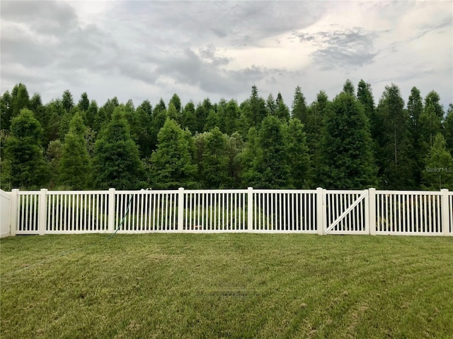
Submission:
[[[453,237],[0,241],[1,338],[453,338]]]

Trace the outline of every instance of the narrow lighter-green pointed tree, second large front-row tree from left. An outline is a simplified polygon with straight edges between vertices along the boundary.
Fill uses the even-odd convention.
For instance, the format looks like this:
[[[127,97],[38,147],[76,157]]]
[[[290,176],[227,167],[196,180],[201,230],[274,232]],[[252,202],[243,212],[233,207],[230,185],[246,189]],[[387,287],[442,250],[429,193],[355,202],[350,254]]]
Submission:
[[[64,137],[59,160],[58,182],[66,189],[81,190],[88,186],[89,157],[85,143],[86,127],[81,113],[76,112]]]

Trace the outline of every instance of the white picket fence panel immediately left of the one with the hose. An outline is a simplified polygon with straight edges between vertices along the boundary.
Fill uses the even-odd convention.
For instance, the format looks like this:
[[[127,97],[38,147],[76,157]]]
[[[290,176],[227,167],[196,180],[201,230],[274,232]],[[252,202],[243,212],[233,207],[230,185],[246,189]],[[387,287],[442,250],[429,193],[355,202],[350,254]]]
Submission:
[[[108,191],[48,191],[45,232],[108,232]]]

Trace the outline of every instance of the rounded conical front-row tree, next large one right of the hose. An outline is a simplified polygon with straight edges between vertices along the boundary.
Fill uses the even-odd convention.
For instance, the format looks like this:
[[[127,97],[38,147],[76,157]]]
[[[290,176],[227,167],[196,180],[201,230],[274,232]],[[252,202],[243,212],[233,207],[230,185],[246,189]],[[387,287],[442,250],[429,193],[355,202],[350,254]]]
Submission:
[[[193,163],[190,132],[176,121],[166,119],[157,136],[157,149],[151,154],[151,184],[156,189],[193,188],[197,166]]]

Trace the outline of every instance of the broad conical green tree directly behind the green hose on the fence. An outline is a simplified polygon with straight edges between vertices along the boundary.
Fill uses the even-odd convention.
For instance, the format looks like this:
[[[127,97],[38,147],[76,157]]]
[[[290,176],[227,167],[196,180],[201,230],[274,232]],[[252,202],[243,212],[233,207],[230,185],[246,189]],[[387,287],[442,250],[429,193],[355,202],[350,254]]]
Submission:
[[[139,150],[130,136],[129,125],[121,107],[101,131],[92,161],[93,188],[139,189],[146,186]]]

